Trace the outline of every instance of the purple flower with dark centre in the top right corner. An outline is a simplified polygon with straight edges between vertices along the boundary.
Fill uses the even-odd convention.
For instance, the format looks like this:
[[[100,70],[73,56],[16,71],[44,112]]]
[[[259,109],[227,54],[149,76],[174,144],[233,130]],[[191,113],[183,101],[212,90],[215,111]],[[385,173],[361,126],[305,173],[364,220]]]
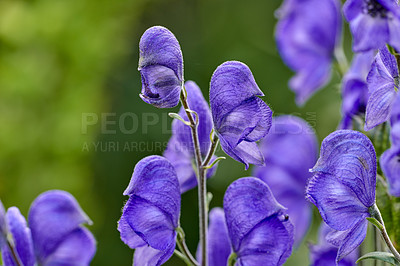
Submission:
[[[400,49],[400,8],[396,0],[347,0],[343,14],[350,23],[353,50],[376,50],[389,43]]]

